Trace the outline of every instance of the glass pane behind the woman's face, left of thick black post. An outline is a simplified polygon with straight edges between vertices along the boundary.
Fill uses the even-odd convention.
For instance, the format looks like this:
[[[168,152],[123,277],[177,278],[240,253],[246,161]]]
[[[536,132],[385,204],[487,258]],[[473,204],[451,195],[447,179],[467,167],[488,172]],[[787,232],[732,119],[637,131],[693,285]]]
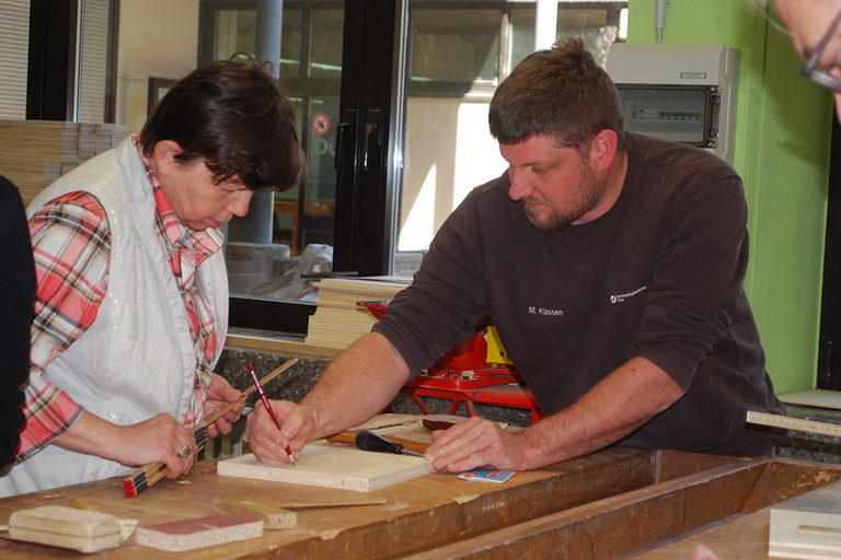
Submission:
[[[274,4],[270,8],[278,12],[261,11],[261,4]],[[231,295],[315,301],[316,293],[306,277],[331,270],[333,261],[333,161],[344,2],[205,1],[201,10],[199,63],[239,56],[273,63],[295,105],[301,147],[307,154],[307,174],[298,187],[255,196],[249,215],[229,224],[226,259]],[[272,27],[278,23],[278,27]],[[279,52],[260,52],[273,40],[279,45]]]

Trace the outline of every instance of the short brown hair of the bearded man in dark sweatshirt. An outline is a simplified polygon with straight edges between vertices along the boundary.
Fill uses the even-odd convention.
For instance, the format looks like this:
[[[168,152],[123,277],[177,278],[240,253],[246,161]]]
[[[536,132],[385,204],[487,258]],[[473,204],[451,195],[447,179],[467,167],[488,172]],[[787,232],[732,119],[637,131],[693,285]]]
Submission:
[[[619,91],[580,37],[526,57],[496,89],[491,133],[503,144],[554,137],[558,147],[585,150],[601,130],[619,136],[624,125]]]

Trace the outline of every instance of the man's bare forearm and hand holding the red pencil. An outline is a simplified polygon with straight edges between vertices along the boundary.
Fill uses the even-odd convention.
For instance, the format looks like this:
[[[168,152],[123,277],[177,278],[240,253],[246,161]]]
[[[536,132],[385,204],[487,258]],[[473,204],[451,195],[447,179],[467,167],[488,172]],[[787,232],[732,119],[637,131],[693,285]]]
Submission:
[[[249,445],[260,460],[288,463],[287,444],[297,453],[312,440],[368,420],[391,402],[408,376],[408,366],[391,342],[369,332],[324,370],[300,405],[270,401],[281,430],[258,402],[249,415]]]

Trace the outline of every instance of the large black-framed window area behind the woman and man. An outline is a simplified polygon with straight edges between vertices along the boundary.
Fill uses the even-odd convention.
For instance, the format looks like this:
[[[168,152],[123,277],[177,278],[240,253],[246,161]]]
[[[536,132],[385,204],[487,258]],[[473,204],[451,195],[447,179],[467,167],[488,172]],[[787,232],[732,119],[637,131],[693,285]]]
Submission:
[[[49,20],[49,2],[32,2],[36,20]],[[469,189],[505,168],[487,106],[533,50],[533,1],[79,2],[91,35],[79,63],[68,61],[82,77],[74,110],[114,116],[129,133],[146,120],[151,79],[165,83],[238,52],[276,61],[308,175],[295,189],[254,197],[249,217],[228,226],[234,327],[304,332],[316,299],[307,276],[412,273]],[[581,34],[603,58],[626,4],[560,1],[557,35]],[[283,5],[279,28],[258,11],[272,5]],[[275,51],[258,52],[275,39]],[[54,38],[45,50],[61,45]],[[58,90],[30,83],[28,95]],[[31,118],[71,118],[46,115]]]

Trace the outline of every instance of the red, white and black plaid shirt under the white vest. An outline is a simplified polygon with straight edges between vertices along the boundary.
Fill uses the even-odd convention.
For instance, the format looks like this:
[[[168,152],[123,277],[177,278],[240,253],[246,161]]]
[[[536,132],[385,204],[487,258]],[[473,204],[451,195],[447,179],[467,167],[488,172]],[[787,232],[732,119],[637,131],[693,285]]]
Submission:
[[[169,255],[170,268],[187,313],[196,351],[194,397],[185,424],[204,417],[206,388],[216,355],[216,317],[195,287],[196,269],[221,247],[216,230],[194,231],[182,224],[154,173],[155,231]],[[30,219],[37,289],[32,326],[30,383],[16,460],[24,460],[48,445],[81,415],[82,408],[44,376],[44,370],[93,324],[107,288],[111,235],[105,211],[95,197],[70,192],[45,205]]]

